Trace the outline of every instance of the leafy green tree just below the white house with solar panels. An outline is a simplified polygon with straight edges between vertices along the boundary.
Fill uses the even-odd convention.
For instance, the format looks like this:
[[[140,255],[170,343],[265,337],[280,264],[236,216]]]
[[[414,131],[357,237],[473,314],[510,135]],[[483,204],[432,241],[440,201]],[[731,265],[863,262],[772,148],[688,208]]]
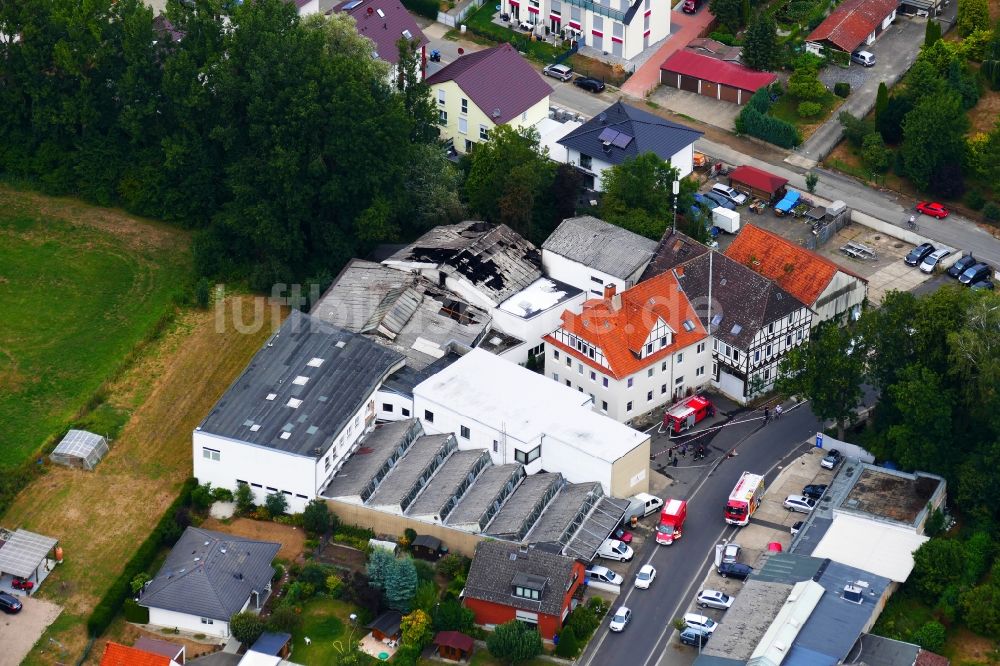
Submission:
[[[601,216],[641,236],[659,239],[673,217],[677,173],[655,153],[643,153],[606,169]]]

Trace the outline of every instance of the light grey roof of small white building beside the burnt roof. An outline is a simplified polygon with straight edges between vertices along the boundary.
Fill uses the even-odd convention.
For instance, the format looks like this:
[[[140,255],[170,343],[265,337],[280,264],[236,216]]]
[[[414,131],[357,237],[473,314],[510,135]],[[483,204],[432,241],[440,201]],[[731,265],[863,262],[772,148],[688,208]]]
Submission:
[[[542,243],[542,250],[625,279],[649,262],[656,246],[645,236],[583,215],[563,220]]]

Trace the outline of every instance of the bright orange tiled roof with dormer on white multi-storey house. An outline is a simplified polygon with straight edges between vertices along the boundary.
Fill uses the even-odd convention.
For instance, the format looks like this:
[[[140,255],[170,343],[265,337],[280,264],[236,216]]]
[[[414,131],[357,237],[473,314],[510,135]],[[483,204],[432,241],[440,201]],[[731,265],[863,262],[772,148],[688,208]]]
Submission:
[[[640,359],[642,347],[658,319],[662,319],[673,330],[672,344]],[[689,322],[690,331],[685,328],[685,322]],[[592,299],[583,304],[583,312],[580,314],[564,312],[562,329],[599,347],[611,366],[610,374],[616,379],[635,374],[675,351],[708,337],[701,320],[671,271],[622,292],[620,301],[617,297]],[[608,372],[608,368],[562,344],[555,337],[548,336],[545,339],[587,365]]]

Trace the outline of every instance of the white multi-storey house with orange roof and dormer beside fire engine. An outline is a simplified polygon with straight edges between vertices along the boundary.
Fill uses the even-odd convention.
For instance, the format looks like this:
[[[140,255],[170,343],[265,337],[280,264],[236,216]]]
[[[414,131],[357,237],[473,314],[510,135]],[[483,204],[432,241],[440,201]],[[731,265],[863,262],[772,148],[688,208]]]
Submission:
[[[679,280],[667,271],[564,312],[545,338],[546,374],[624,422],[707,386],[711,341]]]

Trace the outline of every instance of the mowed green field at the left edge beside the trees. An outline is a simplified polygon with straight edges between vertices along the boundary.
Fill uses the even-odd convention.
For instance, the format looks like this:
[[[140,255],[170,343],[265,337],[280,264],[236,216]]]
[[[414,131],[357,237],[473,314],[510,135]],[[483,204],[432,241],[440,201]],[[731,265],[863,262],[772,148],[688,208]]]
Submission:
[[[0,185],[0,470],[69,425],[170,311],[188,240]]]

